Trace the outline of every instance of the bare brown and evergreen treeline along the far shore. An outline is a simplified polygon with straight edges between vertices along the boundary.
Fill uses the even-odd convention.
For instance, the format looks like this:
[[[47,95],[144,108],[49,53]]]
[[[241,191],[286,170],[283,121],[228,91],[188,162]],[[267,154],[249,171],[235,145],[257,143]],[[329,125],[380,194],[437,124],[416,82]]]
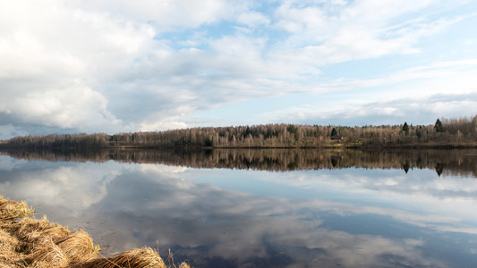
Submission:
[[[477,115],[434,125],[319,126],[267,124],[107,135],[24,136],[9,147],[476,147]]]

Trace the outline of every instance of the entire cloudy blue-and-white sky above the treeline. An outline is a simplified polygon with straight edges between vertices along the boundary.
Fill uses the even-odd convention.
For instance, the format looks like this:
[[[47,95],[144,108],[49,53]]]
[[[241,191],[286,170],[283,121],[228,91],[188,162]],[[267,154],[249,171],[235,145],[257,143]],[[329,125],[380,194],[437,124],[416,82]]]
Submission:
[[[477,1],[0,0],[0,138],[477,114]]]

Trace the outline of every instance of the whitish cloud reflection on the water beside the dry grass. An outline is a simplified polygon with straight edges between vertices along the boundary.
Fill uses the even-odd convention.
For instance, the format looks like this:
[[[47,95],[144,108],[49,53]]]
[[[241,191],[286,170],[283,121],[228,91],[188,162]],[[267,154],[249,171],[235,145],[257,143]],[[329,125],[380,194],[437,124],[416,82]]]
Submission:
[[[8,159],[6,159],[8,160]],[[5,161],[2,158],[2,161]],[[23,168],[24,164],[15,163],[14,170]],[[0,185],[13,195],[21,190],[21,199],[30,199],[31,203],[48,204],[52,206],[66,206],[64,214],[78,216],[82,211],[94,205],[107,196],[106,185],[116,176],[121,175],[124,169],[117,169],[115,163],[107,164],[109,168],[98,163],[83,163],[72,166],[43,166],[41,170],[31,166],[29,171],[17,173],[17,180],[1,181]]]

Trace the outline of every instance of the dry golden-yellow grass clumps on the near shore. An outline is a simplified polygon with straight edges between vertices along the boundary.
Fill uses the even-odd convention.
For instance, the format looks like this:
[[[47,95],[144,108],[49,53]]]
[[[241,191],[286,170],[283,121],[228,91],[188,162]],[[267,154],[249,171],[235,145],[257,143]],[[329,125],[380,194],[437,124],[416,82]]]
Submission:
[[[69,230],[46,216],[36,220],[33,213],[25,202],[0,196],[0,267],[175,267],[149,247],[103,256],[84,230]]]

